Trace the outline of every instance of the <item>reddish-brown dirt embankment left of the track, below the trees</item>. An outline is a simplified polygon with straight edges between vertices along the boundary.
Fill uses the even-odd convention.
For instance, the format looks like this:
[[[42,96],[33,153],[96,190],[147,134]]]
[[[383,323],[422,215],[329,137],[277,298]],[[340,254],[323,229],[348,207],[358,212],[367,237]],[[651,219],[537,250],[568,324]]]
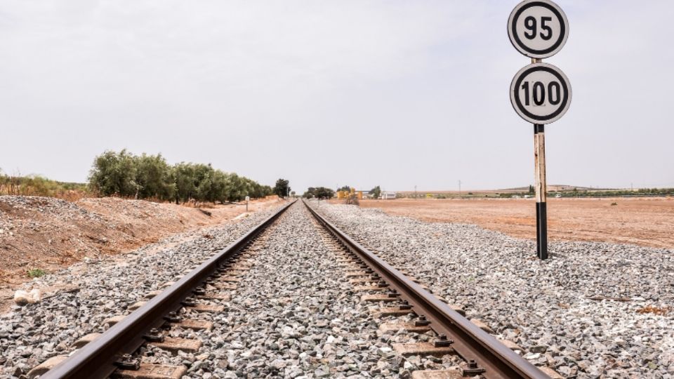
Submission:
[[[249,211],[279,204],[251,201]],[[170,234],[215,225],[246,206],[197,208],[118,198],[69,202],[49,197],[0,196],[0,286],[29,280],[27,271],[58,270],[105,254],[131,251]]]

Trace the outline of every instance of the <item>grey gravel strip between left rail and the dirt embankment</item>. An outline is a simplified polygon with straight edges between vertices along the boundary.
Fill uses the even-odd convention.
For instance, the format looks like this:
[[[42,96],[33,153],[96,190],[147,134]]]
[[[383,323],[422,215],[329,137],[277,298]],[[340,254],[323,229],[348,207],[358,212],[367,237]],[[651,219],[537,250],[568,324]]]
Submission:
[[[41,302],[15,305],[0,316],[0,378],[16,378],[88,333],[103,321],[128,314],[146,293],[242,236],[273,211],[250,213],[238,222],[176,234],[107,260],[87,260],[34,279],[25,288],[43,288]],[[56,293],[50,295],[50,293]]]

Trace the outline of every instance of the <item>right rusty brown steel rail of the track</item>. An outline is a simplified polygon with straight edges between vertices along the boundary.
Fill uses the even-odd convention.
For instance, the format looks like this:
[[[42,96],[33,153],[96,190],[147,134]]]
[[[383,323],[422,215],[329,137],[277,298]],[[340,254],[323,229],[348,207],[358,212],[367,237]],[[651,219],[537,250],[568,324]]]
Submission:
[[[371,270],[388,283],[402,300],[407,300],[414,313],[423,315],[431,321],[430,328],[438,334],[447,335],[453,340],[451,347],[463,359],[475,359],[478,366],[484,368],[481,373],[488,379],[535,378],[550,379],[536,366],[526,359],[515,354],[513,350],[498,342],[489,333],[470,322],[465,317],[452,310],[430,292],[406,277],[387,262],[379,258],[367,248],[351,239],[335,225],[310,207],[303,200],[304,205],[326,229],[336,237],[343,246],[355,253]]]

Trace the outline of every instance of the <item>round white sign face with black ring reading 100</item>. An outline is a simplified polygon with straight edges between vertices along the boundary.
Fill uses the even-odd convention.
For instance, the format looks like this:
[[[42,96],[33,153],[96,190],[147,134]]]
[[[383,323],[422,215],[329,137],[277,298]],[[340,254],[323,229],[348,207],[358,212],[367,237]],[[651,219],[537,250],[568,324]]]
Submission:
[[[571,105],[569,79],[553,65],[533,63],[520,69],[510,84],[515,112],[532,124],[550,124]]]

